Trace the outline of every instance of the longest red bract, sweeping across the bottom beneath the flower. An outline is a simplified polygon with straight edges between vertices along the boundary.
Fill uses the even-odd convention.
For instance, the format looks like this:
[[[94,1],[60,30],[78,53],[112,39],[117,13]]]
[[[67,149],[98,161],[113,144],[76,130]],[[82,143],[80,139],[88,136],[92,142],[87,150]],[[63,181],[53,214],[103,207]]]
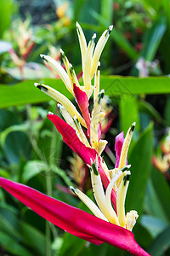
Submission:
[[[139,247],[133,238],[133,233],[129,230],[107,223],[88,212],[83,212],[52,197],[43,195],[26,185],[14,183],[6,178],[0,177],[0,186],[34,212],[37,212],[42,218],[46,218],[74,236],[98,245],[107,242],[133,255],[149,255]]]

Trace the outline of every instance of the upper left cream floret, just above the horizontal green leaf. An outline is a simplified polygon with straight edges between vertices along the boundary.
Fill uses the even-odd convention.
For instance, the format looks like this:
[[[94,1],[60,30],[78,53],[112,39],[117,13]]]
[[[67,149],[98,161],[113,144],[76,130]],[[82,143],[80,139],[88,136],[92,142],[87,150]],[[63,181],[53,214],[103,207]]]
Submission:
[[[59,74],[60,79],[63,80],[65,83],[65,86],[67,90],[71,92],[71,94],[74,96],[73,90],[72,90],[72,84],[69,79],[69,75],[65,72],[65,69],[59,65],[57,61],[55,61],[53,58],[51,58],[48,55],[40,55],[43,61],[47,61],[48,65],[54,69],[56,73]]]

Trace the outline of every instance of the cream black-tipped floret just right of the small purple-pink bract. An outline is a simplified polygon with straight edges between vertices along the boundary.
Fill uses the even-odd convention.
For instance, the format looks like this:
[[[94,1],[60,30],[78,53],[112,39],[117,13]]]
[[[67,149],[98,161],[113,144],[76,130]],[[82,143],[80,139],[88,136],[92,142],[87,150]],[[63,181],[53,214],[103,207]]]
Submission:
[[[128,148],[129,148],[131,139],[133,137],[133,131],[134,131],[135,125],[136,125],[136,123],[134,122],[127,131],[127,135],[126,135],[124,143],[122,145],[121,157],[120,157],[119,167],[118,167],[119,169],[122,169],[123,166],[126,166],[127,152],[128,152]]]

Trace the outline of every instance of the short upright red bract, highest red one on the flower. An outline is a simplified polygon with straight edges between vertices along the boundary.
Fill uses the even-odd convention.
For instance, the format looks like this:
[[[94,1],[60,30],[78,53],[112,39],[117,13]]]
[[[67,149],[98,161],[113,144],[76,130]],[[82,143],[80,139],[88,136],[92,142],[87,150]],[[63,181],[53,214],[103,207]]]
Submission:
[[[88,96],[87,94],[82,91],[79,87],[77,87],[76,84],[73,84],[73,90],[75,97],[77,99],[78,107],[80,108],[82,112],[82,116],[86,122],[86,125],[88,127],[88,133],[90,132],[90,114],[88,111]]]

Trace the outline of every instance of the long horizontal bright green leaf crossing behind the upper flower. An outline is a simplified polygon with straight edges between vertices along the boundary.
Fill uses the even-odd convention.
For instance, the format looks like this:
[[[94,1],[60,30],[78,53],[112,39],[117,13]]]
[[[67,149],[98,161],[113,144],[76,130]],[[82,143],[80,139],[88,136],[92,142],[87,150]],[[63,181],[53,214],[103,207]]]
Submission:
[[[35,82],[37,80],[28,80],[14,85],[0,84],[0,108],[50,101],[51,97],[37,90],[33,85]],[[41,82],[52,86],[69,99],[72,99],[71,93],[66,90],[65,85],[60,79],[42,79]],[[170,93],[169,82],[170,78],[168,77],[138,79],[133,77],[101,76],[100,79],[101,87],[105,89],[105,95],[112,98],[117,95],[133,96]]]

